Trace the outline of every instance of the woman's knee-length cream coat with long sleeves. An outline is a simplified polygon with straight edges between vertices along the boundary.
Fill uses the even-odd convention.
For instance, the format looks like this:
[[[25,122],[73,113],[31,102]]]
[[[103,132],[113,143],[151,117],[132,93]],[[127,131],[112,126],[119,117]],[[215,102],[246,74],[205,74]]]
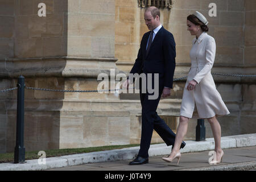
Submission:
[[[229,114],[211,74],[215,53],[215,40],[206,32],[203,32],[198,39],[193,39],[193,46],[190,51],[191,69],[183,92],[181,116],[211,118],[215,115]],[[195,89],[188,91],[187,85],[191,80],[196,80],[198,84]]]

